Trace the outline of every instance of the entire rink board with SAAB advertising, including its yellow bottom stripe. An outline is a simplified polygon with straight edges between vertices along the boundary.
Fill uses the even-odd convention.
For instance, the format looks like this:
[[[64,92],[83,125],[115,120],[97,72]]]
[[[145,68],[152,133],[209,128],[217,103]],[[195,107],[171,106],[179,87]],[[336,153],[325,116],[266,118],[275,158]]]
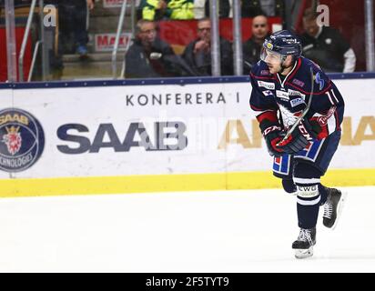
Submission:
[[[23,139],[18,135],[12,154],[0,137],[0,196],[279,186],[248,105],[248,82],[174,83],[3,88],[1,133]],[[342,186],[375,185],[375,81],[335,84],[346,111],[340,148],[325,179]],[[23,111],[17,117],[12,109]],[[40,132],[26,125],[23,112],[37,120]],[[30,135],[24,135],[27,130]],[[34,144],[27,136],[35,138]],[[42,136],[43,152],[31,148],[35,161],[23,169],[25,145],[41,146]],[[17,155],[24,156],[17,160]]]

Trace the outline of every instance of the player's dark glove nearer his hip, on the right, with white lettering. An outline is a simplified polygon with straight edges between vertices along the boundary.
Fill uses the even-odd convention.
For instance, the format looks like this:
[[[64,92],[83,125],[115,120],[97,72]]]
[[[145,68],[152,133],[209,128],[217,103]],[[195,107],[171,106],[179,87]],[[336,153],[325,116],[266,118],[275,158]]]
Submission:
[[[289,155],[297,154],[300,150],[309,145],[309,141],[316,138],[316,134],[312,130],[311,125],[305,120],[300,121],[299,125],[297,125],[289,137],[284,139],[287,133],[288,131],[282,131],[280,133],[281,140],[276,145],[276,148]]]

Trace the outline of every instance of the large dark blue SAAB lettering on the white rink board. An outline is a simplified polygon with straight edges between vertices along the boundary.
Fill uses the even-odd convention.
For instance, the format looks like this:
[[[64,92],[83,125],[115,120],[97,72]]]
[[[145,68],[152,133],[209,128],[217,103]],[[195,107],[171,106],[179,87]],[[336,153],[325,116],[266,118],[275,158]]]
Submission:
[[[76,131],[78,134],[68,133],[70,131]],[[146,151],[183,150],[187,147],[185,131],[186,125],[182,122],[156,122],[151,140],[143,123],[131,123],[121,141],[114,125],[100,124],[91,141],[86,136],[79,135],[90,132],[86,125],[67,124],[58,127],[57,136],[60,140],[75,145],[59,145],[57,149],[67,155],[98,153],[100,149],[108,147],[116,153],[128,152],[132,147],[143,147]]]

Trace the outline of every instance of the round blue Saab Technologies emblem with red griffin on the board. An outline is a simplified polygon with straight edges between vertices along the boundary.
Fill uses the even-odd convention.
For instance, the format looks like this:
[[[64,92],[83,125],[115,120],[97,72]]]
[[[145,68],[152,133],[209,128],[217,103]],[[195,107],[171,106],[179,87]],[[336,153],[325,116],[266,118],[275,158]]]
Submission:
[[[33,115],[21,109],[0,111],[0,169],[21,172],[42,155],[45,134]]]

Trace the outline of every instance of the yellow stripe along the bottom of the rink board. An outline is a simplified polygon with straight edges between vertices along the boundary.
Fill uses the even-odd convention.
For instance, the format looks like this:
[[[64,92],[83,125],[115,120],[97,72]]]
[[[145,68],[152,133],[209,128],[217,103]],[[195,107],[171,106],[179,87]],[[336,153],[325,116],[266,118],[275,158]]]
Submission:
[[[330,170],[327,186],[375,186],[375,169]],[[270,171],[187,175],[2,179],[0,197],[278,188]]]

